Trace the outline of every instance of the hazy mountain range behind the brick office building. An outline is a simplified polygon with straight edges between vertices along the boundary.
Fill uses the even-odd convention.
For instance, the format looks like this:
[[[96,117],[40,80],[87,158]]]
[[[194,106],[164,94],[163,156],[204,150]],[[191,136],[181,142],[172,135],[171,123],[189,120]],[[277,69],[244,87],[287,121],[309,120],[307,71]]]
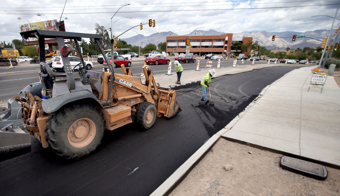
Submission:
[[[209,31],[197,30],[191,35],[220,35],[223,32],[218,32],[210,29]],[[315,31],[307,31],[307,32],[294,32],[294,31],[284,31],[284,32],[267,32],[267,31],[249,31],[249,32],[241,32],[234,33],[233,37],[253,37],[253,41],[258,41],[261,46],[265,46],[267,49],[286,49],[287,47],[291,49],[304,47],[317,47],[322,45],[322,41],[329,34],[329,30],[321,29]],[[144,47],[148,43],[158,44],[160,42],[165,42],[167,36],[177,36],[176,33],[172,31],[168,32],[160,32],[154,33],[149,36],[144,36],[142,34],[136,35],[129,38],[123,38],[122,40],[126,41],[128,44],[139,46],[141,42],[141,47]],[[186,34],[189,35],[189,34]],[[272,41],[272,36],[275,35],[275,41]],[[293,35],[296,36],[305,36],[305,38],[296,38],[295,41],[292,41]],[[333,32],[331,33],[333,35]],[[139,37],[138,37],[139,36]],[[310,37],[310,38],[307,38]],[[314,39],[311,39],[314,38]],[[315,40],[318,39],[318,40]],[[338,42],[340,40],[340,36],[338,37]]]

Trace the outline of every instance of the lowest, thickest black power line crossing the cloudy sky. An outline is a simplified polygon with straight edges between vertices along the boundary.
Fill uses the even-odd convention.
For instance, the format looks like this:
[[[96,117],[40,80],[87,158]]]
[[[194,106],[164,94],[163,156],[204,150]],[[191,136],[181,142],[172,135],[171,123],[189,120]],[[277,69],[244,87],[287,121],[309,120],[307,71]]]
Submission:
[[[296,5],[296,6],[282,6],[282,7],[253,7],[253,8],[225,8],[225,9],[202,9],[202,10],[157,10],[157,11],[130,11],[119,13],[144,13],[144,12],[187,12],[187,11],[217,11],[217,10],[259,10],[259,9],[277,9],[277,8],[291,8],[291,7],[312,7],[312,6],[324,6],[324,5],[338,5],[339,3],[321,4],[321,5]],[[84,13],[64,13],[64,14],[112,14],[116,12],[84,12]],[[0,14],[18,14],[18,13],[0,13]],[[35,15],[35,14],[23,14],[22,15]],[[60,14],[60,13],[44,13],[44,14]]]

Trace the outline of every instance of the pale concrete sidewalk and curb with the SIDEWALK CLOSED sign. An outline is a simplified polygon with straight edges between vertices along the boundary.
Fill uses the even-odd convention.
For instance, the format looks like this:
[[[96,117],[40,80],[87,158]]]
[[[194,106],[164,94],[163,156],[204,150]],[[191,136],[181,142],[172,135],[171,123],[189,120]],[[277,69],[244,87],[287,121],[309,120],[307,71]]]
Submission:
[[[340,88],[328,75],[322,93],[307,92],[316,67],[293,70],[268,85],[151,195],[167,193],[220,137],[340,166]]]

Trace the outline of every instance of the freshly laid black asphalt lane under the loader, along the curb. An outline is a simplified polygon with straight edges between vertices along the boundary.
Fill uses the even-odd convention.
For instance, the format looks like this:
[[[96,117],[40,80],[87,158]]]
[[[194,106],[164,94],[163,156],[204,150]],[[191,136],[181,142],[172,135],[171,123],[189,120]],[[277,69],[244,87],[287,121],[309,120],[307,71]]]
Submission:
[[[137,130],[134,123],[106,131],[97,150],[80,160],[64,160],[32,137],[30,153],[0,162],[2,195],[149,195],[262,88],[295,68],[270,67],[214,78],[215,107],[200,101],[197,84],[176,87],[183,110],[177,117],[157,118],[147,131]]]

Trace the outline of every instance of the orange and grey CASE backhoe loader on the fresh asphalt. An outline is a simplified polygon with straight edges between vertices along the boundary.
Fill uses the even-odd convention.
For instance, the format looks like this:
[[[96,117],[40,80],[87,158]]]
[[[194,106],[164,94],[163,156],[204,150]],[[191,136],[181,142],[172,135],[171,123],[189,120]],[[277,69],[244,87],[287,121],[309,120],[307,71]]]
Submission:
[[[7,108],[0,108],[0,155],[8,155],[28,148],[30,135],[44,148],[51,147],[66,159],[77,159],[90,154],[100,144],[105,129],[114,130],[132,122],[142,129],[151,128],[156,117],[173,118],[181,108],[176,91],[159,87],[153,71],[142,68],[145,83],[132,69],[121,66],[124,74],[86,70],[84,59],[73,69],[68,55],[70,46],[65,39],[73,39],[80,53],[78,41],[90,38],[105,55],[97,34],[71,33],[45,30],[21,32],[24,39],[39,37],[41,82],[28,85],[8,100]],[[56,38],[65,74],[56,74],[45,62],[45,38]],[[78,71],[79,77],[73,72]],[[28,133],[27,133],[28,132]],[[6,142],[3,142],[6,141]],[[1,156],[0,156],[1,158]]]

